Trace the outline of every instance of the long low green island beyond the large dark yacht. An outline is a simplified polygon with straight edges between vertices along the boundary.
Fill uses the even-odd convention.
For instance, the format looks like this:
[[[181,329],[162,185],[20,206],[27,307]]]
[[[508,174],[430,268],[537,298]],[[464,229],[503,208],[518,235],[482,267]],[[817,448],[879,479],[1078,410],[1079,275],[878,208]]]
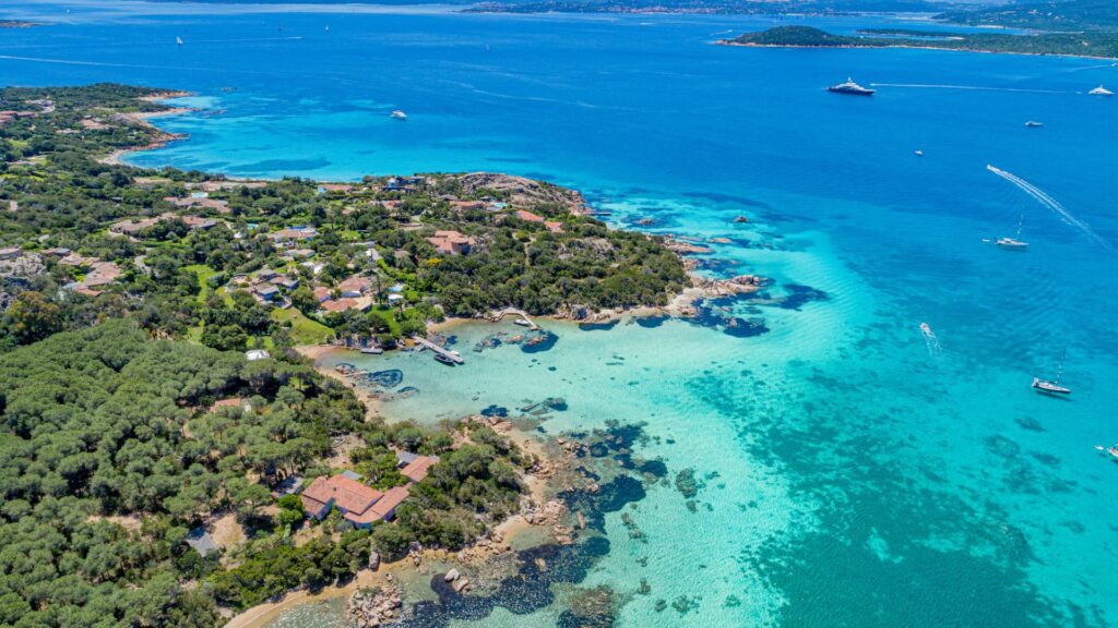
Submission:
[[[783,26],[721,39],[726,46],[774,48],[930,48],[970,53],[1016,55],[1061,55],[1069,57],[1118,58],[1118,32],[941,32],[899,28],[863,29],[858,35],[833,35],[806,26]]]

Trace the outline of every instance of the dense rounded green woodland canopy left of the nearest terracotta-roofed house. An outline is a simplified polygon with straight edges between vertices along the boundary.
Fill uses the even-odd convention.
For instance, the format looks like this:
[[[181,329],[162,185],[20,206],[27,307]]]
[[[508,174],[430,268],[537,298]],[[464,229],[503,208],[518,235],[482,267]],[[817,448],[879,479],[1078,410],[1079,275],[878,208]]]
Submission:
[[[206,411],[226,396],[253,411]],[[188,527],[228,508],[259,517],[272,497],[249,478],[297,472],[361,416],[309,367],[153,341],[127,321],[0,358],[0,624],[216,625],[212,600],[182,586],[216,568],[182,544]]]

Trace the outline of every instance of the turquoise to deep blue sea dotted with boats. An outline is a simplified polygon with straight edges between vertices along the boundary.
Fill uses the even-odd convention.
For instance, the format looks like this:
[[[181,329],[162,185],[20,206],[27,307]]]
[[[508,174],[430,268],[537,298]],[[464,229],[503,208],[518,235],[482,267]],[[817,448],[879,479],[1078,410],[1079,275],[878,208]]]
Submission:
[[[548,550],[561,569],[525,560],[531,596],[410,625],[577,626],[597,587],[619,627],[1118,625],[1118,464],[1096,448],[1118,441],[1118,99],[1087,94],[1118,86],[1114,63],[713,45],[787,23],[942,30],[920,16],[0,12],[50,22],[0,30],[0,84],[193,94],[177,102],[203,111],[158,120],[189,140],[133,164],[521,174],[581,190],[614,227],[704,242],[707,276],[769,278],[695,320],[544,322],[540,350],[475,352],[520,327],[461,324],[455,368],[345,356],[399,371],[392,420],[562,398],[541,437],[622,435],[662,472],[605,487],[584,540]],[[877,94],[824,89],[847,77]],[[1072,394],[1031,389],[1061,364]],[[337,603],[292,612],[274,626],[342,625]]]

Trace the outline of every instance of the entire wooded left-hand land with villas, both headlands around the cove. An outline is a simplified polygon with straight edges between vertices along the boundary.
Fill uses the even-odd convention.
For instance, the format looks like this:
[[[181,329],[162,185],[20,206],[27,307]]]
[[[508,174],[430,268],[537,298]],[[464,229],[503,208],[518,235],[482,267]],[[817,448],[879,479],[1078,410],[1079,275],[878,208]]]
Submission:
[[[518,515],[569,543],[574,515],[533,488],[548,458],[508,421],[389,425],[295,348],[390,348],[496,307],[664,305],[689,284],[667,242],[504,174],[244,181],[107,159],[180,140],[148,122],[174,95],[0,91],[0,624],[217,626],[419,546],[509,552]]]

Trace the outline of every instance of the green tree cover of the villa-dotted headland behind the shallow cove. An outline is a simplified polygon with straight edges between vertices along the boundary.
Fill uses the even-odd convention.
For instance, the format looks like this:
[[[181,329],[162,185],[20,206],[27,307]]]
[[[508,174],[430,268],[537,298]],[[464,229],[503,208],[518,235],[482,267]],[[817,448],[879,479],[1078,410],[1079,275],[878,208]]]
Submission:
[[[0,274],[0,352],[106,316],[220,350],[334,336],[387,343],[423,333],[427,321],[505,306],[550,314],[663,304],[686,283],[662,242],[607,229],[579,215],[576,192],[527,179],[236,184],[98,161],[171,139],[135,117],[165,108],[151,101],[159,94],[0,91],[0,110],[23,114],[0,125],[0,209],[10,209],[0,211],[0,248],[18,246],[34,261]],[[310,235],[276,236],[297,226]],[[437,250],[438,231],[472,246]],[[76,255],[47,254],[59,249]],[[113,276],[89,284],[104,264]],[[265,297],[260,286],[277,275]],[[313,288],[337,301],[352,277],[369,282],[364,302],[324,307]],[[285,302],[292,311],[276,308]]]

